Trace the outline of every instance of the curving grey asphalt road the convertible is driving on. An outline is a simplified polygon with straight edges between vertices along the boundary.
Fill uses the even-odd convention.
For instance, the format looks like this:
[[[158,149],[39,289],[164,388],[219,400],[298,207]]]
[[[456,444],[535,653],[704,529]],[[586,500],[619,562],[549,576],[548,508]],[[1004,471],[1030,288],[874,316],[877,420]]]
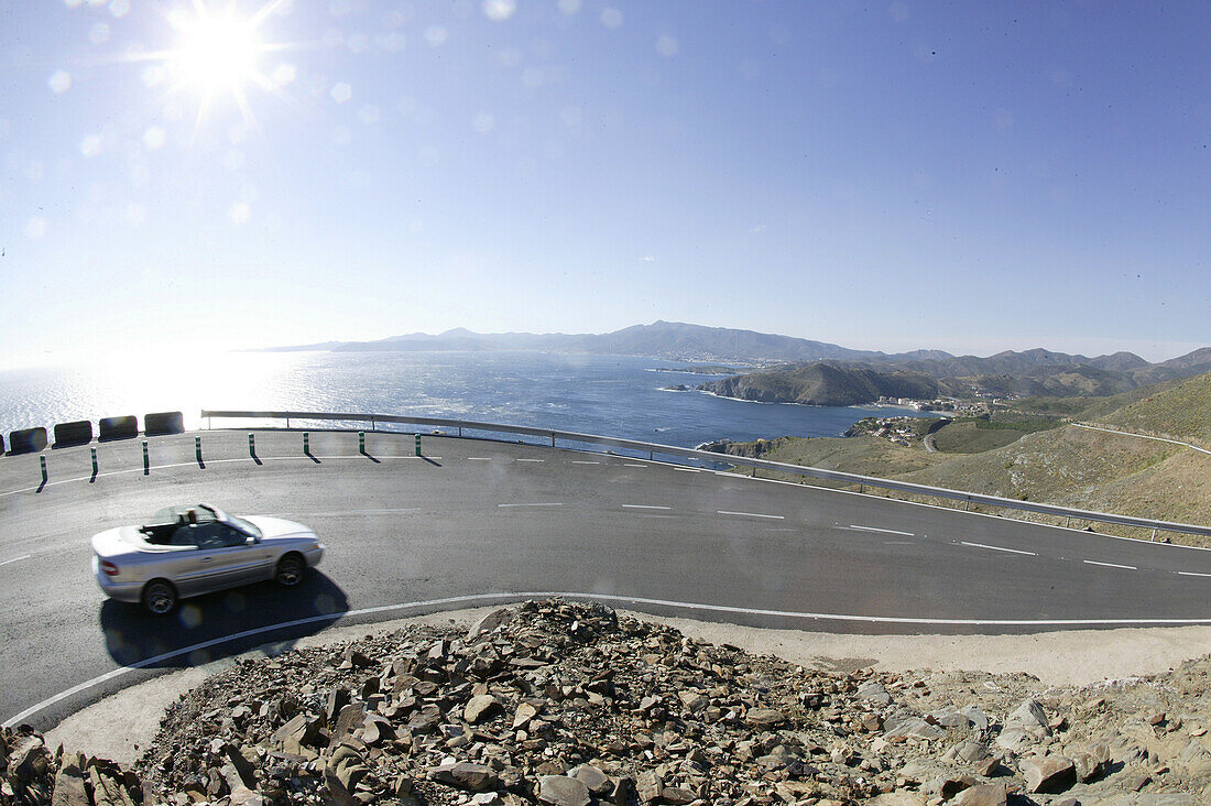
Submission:
[[[418,458],[412,436],[360,455],[312,431],[304,456],[299,431],[257,431],[254,459],[248,431],[200,434],[205,467],[193,434],[153,438],[148,474],[140,440],[93,444],[96,476],[88,446],[47,451],[45,485],[36,456],[0,458],[0,720],[47,728],[156,669],[533,591],[834,631],[1211,623],[1205,550],[532,445],[425,436]],[[325,560],[166,618],[107,601],[88,538],[191,502],[303,521]]]

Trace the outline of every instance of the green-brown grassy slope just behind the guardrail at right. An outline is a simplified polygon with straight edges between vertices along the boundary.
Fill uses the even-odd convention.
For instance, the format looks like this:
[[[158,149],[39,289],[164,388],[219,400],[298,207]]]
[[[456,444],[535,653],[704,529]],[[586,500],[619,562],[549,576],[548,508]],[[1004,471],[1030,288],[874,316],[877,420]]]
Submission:
[[[1095,424],[1171,436],[1211,450],[1211,373],[1142,388],[1118,398],[1017,402],[1027,412],[1062,412]],[[1096,417],[1091,416],[1095,413]],[[942,435],[948,429],[964,424],[942,428],[937,433],[937,446],[945,444]],[[779,438],[776,434],[769,436]],[[731,442],[724,447],[728,453],[761,456],[774,462],[1078,509],[1211,525],[1211,456],[1171,442],[1071,424],[1027,433],[1008,445],[974,453],[929,452],[919,441],[905,446],[872,435],[779,438]],[[1010,510],[992,511],[1048,520]],[[1062,521],[1052,519],[1050,522]],[[1126,527],[1097,524],[1095,528],[1150,537],[1148,532]],[[1207,538],[1187,539],[1211,544]]]

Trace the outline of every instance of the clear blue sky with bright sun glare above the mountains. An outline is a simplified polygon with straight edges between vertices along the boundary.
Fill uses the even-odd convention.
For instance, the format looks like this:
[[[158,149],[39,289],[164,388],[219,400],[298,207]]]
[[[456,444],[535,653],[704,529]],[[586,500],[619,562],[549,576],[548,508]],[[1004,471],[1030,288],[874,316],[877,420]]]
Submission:
[[[228,6],[258,45],[185,58]],[[1207,52],[1201,2],[4,4],[0,365],[656,319],[1170,358]]]

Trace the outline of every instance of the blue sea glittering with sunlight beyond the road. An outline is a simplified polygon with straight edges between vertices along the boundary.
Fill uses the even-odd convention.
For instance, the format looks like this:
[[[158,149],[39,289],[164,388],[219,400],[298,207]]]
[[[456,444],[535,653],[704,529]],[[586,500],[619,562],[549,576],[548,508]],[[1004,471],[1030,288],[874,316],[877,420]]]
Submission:
[[[546,353],[228,353],[0,372],[0,430],[180,411],[293,410],[449,417],[694,447],[717,439],[838,436],[872,413],[756,404],[661,387],[723,376],[677,361]],[[254,424],[216,421],[214,425]],[[295,423],[292,425],[302,425]]]

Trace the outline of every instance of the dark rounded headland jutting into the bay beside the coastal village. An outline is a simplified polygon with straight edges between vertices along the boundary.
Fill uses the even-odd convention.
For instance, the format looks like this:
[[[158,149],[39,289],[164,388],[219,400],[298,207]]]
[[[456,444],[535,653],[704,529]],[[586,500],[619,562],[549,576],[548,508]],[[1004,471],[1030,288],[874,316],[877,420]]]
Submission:
[[[937,383],[919,373],[828,361],[739,375],[704,383],[699,389],[724,398],[809,406],[855,406],[884,395],[917,399],[937,395]]]

